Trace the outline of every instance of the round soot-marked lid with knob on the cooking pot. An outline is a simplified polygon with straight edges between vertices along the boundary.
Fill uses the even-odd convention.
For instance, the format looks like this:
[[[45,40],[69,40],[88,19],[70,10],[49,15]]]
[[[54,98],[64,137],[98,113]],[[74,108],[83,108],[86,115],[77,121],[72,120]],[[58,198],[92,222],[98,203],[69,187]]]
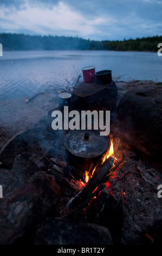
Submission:
[[[85,159],[105,154],[109,146],[108,139],[98,130],[70,130],[63,144],[69,153]]]

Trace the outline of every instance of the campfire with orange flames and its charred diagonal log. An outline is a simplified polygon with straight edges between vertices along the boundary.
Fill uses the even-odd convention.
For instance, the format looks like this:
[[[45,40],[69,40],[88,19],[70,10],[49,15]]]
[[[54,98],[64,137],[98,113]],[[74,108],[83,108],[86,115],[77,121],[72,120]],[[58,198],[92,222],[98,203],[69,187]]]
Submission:
[[[109,173],[113,173],[118,160],[114,157],[113,139],[111,140],[111,146],[102,156],[101,160],[96,164],[92,174],[85,171],[83,180],[73,180],[79,187],[79,193],[67,204],[67,208],[78,214],[86,204],[96,198],[101,190],[106,186],[106,182],[109,179]]]

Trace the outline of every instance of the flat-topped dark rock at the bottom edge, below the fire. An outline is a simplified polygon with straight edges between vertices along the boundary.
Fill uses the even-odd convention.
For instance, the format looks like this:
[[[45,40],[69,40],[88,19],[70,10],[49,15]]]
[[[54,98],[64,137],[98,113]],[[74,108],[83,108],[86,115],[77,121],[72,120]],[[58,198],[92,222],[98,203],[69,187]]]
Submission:
[[[108,228],[47,217],[36,230],[35,245],[112,245]]]

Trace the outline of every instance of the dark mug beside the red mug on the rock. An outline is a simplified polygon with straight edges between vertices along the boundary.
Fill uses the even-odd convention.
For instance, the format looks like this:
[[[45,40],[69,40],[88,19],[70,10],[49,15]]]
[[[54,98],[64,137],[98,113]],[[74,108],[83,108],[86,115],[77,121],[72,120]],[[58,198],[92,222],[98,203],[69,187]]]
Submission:
[[[101,70],[95,73],[98,84],[109,84],[112,82],[112,70]]]

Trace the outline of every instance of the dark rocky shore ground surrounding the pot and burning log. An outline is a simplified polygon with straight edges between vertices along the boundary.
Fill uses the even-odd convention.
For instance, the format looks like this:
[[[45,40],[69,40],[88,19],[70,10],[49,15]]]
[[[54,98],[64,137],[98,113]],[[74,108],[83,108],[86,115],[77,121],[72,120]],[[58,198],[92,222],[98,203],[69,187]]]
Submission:
[[[0,102],[1,244],[160,244],[162,87],[153,81],[116,87],[111,135],[118,164],[96,200],[75,217],[65,211],[78,191],[67,178],[64,133],[51,130],[57,95]]]

